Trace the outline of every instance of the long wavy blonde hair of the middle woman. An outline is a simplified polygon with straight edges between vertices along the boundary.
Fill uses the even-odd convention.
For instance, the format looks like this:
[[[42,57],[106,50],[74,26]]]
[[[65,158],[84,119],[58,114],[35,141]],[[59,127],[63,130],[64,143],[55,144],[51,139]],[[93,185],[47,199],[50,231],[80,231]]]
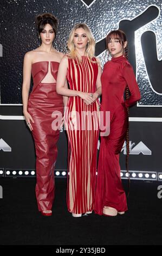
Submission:
[[[87,57],[89,58],[89,60],[92,60],[92,58],[94,57],[94,52],[95,52],[95,40],[93,38],[92,32],[90,31],[89,27],[85,23],[77,23],[73,27],[72,31],[70,32],[68,44],[67,44],[68,49],[69,49],[67,56],[69,58],[73,58],[73,59],[77,58],[77,53],[75,51],[75,45],[73,42],[74,34],[75,34],[75,31],[77,28],[83,28],[86,31],[86,35],[89,40],[89,43],[86,46],[86,54],[87,54]]]

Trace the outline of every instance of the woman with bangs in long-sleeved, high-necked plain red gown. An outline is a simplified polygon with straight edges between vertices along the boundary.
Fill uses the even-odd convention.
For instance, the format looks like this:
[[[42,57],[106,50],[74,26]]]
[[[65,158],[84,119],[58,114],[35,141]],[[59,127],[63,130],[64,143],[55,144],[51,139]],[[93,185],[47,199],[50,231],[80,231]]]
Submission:
[[[95,213],[116,216],[127,210],[126,194],[121,184],[119,154],[128,129],[127,108],[140,99],[138,84],[132,66],[127,60],[127,40],[124,32],[117,30],[107,35],[108,52],[112,59],[101,75],[103,115],[110,112],[109,135],[101,137]],[[129,99],[124,101],[126,87]]]

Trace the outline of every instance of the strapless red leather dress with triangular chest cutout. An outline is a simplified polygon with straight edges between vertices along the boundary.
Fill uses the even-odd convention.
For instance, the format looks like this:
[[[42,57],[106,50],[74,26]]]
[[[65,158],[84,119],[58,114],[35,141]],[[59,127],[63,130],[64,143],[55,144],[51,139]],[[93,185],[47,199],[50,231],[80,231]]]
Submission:
[[[32,65],[33,90],[28,100],[28,112],[34,119],[33,138],[36,149],[36,198],[38,210],[51,210],[54,200],[54,166],[57,158],[59,129],[53,121],[63,114],[63,97],[56,93],[56,82],[41,83],[48,73],[49,62]],[[58,62],[50,62],[50,72],[57,79]],[[53,114],[53,115],[52,115]]]

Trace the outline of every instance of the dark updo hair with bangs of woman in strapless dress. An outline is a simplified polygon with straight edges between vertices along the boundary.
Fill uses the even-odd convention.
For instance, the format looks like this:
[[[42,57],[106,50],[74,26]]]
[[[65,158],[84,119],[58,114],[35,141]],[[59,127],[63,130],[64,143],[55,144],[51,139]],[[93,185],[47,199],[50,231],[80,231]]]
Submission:
[[[49,24],[53,28],[56,36],[58,23],[59,21],[57,20],[57,18],[50,13],[39,14],[36,16],[36,28],[39,35],[43,31],[46,24]]]

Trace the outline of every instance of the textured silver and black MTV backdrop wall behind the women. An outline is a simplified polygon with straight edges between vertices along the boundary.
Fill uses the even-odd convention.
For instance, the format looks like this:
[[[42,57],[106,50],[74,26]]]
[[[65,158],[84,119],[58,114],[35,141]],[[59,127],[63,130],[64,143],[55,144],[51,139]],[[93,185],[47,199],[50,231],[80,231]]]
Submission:
[[[0,9],[0,176],[35,176],[34,142],[22,113],[24,54],[40,45],[35,29],[37,14],[59,19],[54,47],[67,52],[68,35],[85,22],[96,40],[101,65],[108,60],[105,38],[122,29],[128,39],[129,62],[141,92],[129,117],[129,170],[131,179],[162,180],[162,0],[9,0]],[[31,84],[32,88],[32,84]],[[98,144],[98,149],[100,142]],[[67,173],[67,137],[60,132],[56,176]],[[125,173],[125,144],[121,150],[121,176]]]

